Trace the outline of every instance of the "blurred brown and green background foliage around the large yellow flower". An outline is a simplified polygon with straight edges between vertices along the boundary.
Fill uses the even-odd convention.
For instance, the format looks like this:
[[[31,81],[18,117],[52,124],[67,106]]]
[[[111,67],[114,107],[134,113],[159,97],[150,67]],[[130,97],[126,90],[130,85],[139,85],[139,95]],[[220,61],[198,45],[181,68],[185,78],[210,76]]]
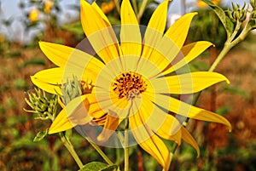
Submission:
[[[175,1],[175,0],[174,0]],[[38,131],[50,123],[34,120],[24,100],[33,91],[30,76],[53,66],[38,48],[38,41],[61,43],[75,47],[84,38],[79,18],[61,24],[62,1],[20,1],[23,11],[19,19],[1,20],[9,28],[14,20],[20,20],[26,30],[38,30],[29,43],[10,40],[0,30],[0,170],[77,170],[68,151],[55,136],[32,142]],[[98,5],[113,25],[118,25],[119,13],[112,0],[99,0]],[[142,3],[137,1],[138,7]],[[158,3],[148,1],[141,24],[146,25]],[[196,4],[193,4],[196,5]],[[201,7],[201,6],[200,6]],[[69,7],[79,12],[79,4]],[[225,8],[225,7],[224,7]],[[215,44],[201,58],[190,64],[191,71],[206,71],[224,46],[225,31],[218,17],[208,8],[195,8],[198,15],[192,22],[187,43],[207,40]],[[170,15],[172,17],[172,15]],[[170,20],[170,19],[169,19]],[[0,27],[1,28],[1,27]],[[230,79],[231,84],[218,84],[203,92],[198,105],[224,115],[233,126],[227,133],[222,125],[189,121],[189,131],[201,147],[201,156],[183,143],[174,156],[170,170],[200,171],[255,171],[256,170],[256,36],[233,48],[218,66],[218,72]],[[102,161],[102,158],[79,134],[72,136],[74,147],[84,163]],[[172,148],[172,144],[169,146]],[[122,151],[102,148],[114,160]],[[131,170],[161,170],[154,158],[136,147],[131,151]],[[143,163],[143,167],[142,167]]]

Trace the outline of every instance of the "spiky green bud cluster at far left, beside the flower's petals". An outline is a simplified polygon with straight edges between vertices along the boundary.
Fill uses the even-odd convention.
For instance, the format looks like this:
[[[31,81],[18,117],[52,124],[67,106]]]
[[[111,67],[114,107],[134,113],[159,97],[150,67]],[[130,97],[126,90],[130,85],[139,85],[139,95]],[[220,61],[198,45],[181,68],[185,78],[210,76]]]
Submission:
[[[27,105],[29,105],[32,110],[24,110],[38,114],[38,117],[36,117],[37,119],[50,119],[53,121],[58,107],[58,99],[56,95],[48,98],[44,91],[42,92],[39,89],[35,90],[36,93],[28,93],[28,99],[25,99]]]

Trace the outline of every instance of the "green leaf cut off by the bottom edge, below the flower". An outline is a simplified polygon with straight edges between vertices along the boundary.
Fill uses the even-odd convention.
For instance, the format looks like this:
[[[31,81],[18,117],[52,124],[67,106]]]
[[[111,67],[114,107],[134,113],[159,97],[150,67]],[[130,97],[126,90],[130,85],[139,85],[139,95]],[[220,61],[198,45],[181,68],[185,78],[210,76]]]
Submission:
[[[84,165],[79,171],[116,171],[116,165],[108,166],[103,162],[90,162]]]

